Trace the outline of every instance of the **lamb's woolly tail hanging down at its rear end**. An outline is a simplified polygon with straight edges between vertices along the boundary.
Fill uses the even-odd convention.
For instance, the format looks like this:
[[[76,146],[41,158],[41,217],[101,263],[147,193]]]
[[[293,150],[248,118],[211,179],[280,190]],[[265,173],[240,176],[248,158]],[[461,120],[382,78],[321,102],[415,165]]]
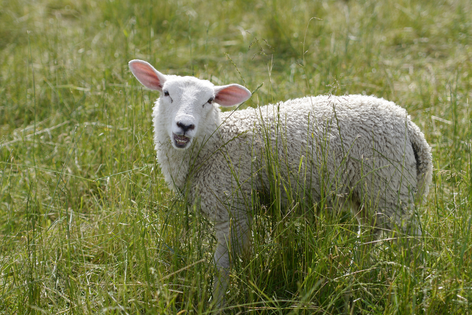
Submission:
[[[416,160],[416,200],[421,203],[424,197],[428,196],[433,177],[431,147],[420,128],[411,121],[410,116],[407,119],[407,129]]]

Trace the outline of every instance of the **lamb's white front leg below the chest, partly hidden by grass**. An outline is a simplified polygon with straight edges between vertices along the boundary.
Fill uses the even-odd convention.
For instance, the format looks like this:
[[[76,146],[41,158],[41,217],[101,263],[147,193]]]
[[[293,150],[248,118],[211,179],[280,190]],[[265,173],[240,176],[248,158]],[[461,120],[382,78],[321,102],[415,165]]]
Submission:
[[[249,245],[249,221],[236,221],[215,224],[218,244],[213,256],[217,268],[217,279],[213,286],[213,303],[217,307],[225,305],[225,292],[228,287],[229,271],[236,255],[242,255]]]

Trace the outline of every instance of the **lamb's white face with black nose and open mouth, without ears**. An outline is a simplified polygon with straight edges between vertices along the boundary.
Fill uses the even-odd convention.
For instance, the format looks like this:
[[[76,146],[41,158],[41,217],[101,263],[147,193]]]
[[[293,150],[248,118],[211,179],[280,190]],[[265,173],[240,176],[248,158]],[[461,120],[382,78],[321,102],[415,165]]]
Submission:
[[[215,90],[208,81],[194,77],[169,78],[162,86],[160,104],[164,107],[172,146],[187,148],[199,133],[200,122],[214,109]]]

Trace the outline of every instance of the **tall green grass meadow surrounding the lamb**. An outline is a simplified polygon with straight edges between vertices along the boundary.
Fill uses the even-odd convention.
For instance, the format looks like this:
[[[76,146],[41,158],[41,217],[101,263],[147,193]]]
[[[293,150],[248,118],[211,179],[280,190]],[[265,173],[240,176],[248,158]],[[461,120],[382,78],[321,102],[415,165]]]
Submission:
[[[210,312],[212,227],[162,179],[131,59],[264,83],[254,105],[374,94],[433,147],[421,261],[358,264],[349,213],[263,208],[227,314],[470,314],[472,7],[385,2],[1,1],[1,314]]]

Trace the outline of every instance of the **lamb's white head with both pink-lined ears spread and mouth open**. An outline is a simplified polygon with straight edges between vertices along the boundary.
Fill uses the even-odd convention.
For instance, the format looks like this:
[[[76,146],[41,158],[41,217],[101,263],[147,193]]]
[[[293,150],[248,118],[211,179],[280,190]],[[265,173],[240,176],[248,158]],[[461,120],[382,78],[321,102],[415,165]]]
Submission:
[[[129,68],[145,87],[160,91],[160,104],[169,121],[167,132],[176,149],[185,149],[198,135],[211,111],[219,105],[234,106],[251,97],[251,92],[238,84],[215,86],[196,77],[166,76],[143,60],[131,60]]]

